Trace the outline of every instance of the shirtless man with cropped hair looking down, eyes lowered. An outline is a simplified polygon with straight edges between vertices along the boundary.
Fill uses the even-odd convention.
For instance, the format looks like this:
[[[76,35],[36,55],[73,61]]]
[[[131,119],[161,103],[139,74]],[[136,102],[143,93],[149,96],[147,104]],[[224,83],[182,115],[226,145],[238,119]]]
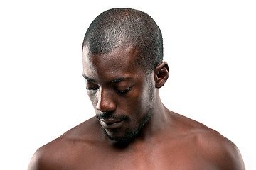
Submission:
[[[28,169],[245,169],[233,142],[164,107],[162,60],[161,30],[146,13],[97,16],[82,44],[96,116],[38,149]]]

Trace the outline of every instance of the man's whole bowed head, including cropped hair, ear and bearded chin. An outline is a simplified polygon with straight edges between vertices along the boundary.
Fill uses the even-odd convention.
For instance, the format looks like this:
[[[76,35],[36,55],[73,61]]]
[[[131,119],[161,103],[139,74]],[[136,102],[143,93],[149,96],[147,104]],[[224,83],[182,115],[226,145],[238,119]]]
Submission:
[[[168,78],[161,31],[142,11],[112,9],[97,16],[82,48],[87,94],[105,134],[129,142],[154,114]]]

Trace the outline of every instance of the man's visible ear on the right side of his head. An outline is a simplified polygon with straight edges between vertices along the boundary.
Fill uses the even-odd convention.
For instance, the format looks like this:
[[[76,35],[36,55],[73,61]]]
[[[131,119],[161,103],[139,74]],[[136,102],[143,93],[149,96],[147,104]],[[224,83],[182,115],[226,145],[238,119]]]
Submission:
[[[167,62],[161,62],[154,69],[154,80],[156,81],[156,88],[164,86],[165,82],[169,77],[169,67]]]

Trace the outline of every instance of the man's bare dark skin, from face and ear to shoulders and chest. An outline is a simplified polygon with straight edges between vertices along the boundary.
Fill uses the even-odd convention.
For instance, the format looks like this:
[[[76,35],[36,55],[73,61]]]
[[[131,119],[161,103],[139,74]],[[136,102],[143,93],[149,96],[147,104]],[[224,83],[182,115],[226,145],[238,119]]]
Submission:
[[[167,63],[146,74],[134,64],[136,57],[133,47],[106,55],[84,48],[87,93],[99,119],[91,118],[38,149],[28,169],[245,169],[233,142],[161,103]],[[124,142],[145,118],[142,130]]]

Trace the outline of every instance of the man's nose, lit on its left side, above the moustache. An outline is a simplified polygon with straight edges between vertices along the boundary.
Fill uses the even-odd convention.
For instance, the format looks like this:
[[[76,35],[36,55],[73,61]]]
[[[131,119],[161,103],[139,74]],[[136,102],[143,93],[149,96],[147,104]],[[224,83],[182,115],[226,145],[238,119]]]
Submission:
[[[96,108],[105,113],[116,109],[116,103],[113,101],[112,95],[107,92],[107,89],[100,89]]]

